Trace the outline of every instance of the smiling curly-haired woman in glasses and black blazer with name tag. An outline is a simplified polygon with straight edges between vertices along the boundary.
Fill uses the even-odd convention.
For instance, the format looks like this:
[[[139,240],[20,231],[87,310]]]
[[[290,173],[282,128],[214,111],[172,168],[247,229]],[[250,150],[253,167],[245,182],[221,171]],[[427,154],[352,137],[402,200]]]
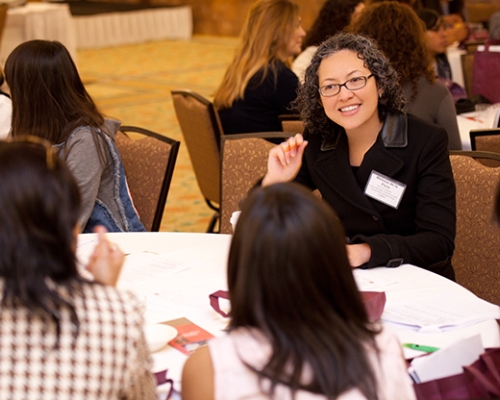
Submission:
[[[347,33],[323,42],[297,103],[306,140],[271,149],[262,185],[318,189],[344,224],[353,267],[409,263],[454,280],[447,135],[402,111],[398,75],[375,42]]]

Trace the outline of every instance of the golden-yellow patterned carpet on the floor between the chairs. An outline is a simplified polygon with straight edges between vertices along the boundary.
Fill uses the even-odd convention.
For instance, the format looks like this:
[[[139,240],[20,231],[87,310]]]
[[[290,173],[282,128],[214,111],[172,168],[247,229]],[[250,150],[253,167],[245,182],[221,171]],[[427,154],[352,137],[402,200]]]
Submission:
[[[85,86],[105,115],[181,141],[162,231],[205,232],[213,214],[182,143],[170,91],[191,89],[211,98],[236,44],[236,38],[194,36],[78,51]]]

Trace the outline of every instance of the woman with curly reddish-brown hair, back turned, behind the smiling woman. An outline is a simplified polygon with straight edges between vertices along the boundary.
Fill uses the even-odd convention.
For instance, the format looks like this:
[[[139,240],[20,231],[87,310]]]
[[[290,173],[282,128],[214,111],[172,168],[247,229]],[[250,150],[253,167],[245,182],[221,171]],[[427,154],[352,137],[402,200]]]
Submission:
[[[425,30],[415,11],[394,1],[372,4],[347,30],[370,36],[389,58],[400,76],[405,111],[444,128],[448,148],[461,150],[455,102],[450,91],[436,81]]]

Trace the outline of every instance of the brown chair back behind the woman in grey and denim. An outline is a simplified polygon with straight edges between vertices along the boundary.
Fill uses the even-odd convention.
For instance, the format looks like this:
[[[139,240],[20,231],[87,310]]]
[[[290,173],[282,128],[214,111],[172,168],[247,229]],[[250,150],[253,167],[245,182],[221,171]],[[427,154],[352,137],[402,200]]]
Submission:
[[[148,231],[158,232],[180,142],[147,129],[122,126],[116,145],[141,222]]]

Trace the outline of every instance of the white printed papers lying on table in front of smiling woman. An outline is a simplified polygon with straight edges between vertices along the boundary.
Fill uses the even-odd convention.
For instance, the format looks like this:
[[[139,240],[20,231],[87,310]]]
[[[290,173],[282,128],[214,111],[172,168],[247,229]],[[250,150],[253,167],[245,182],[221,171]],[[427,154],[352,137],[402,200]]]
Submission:
[[[388,302],[382,314],[383,321],[420,332],[445,331],[499,318],[500,307],[478,297],[458,293],[429,296],[396,305]]]

